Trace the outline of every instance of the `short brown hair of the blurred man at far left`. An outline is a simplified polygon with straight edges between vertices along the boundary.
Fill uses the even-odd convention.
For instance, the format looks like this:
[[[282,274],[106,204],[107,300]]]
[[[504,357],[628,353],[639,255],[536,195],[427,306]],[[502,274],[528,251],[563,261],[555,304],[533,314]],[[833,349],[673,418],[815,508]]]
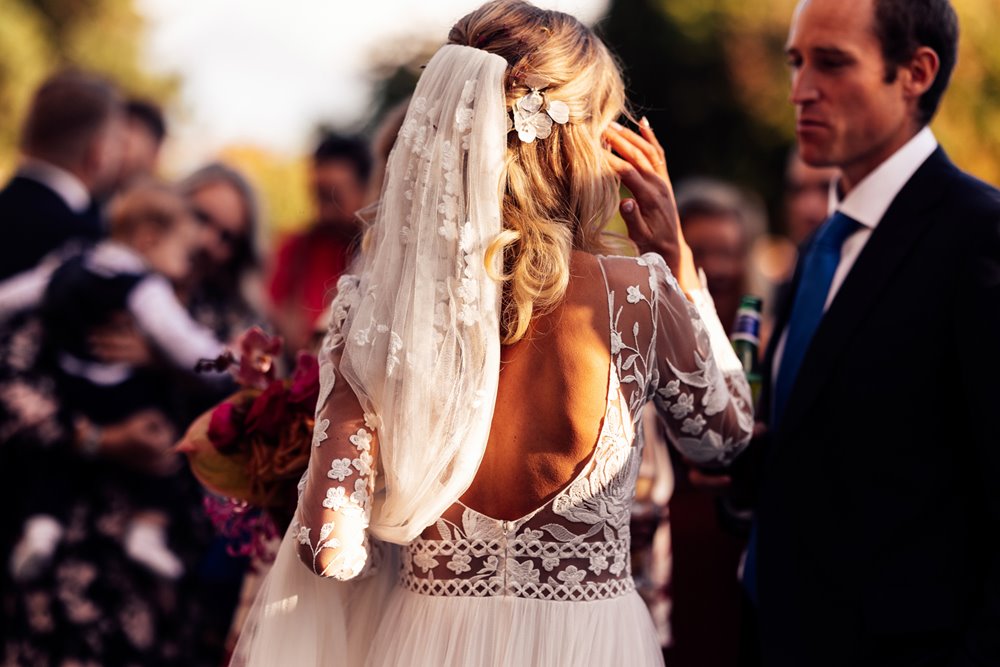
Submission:
[[[118,91],[106,79],[79,70],[58,72],[35,91],[21,147],[44,159],[75,161],[121,109]]]

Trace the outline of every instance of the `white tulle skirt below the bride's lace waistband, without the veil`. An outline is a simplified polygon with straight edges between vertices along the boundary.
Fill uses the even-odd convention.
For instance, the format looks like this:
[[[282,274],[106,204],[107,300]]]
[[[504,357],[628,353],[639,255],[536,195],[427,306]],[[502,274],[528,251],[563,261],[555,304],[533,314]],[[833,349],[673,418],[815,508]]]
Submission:
[[[634,591],[609,600],[440,597],[392,591],[366,665],[581,667],[662,665]]]

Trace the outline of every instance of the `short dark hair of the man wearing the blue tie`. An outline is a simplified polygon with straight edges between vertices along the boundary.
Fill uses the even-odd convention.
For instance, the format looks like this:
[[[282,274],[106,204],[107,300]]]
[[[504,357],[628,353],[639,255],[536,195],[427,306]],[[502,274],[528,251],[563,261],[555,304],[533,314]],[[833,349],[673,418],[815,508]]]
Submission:
[[[918,102],[918,120],[927,124],[937,112],[958,59],[958,17],[949,0],[875,0],[875,31],[882,44],[886,81],[917,49],[934,50],[941,61],[934,83]]]

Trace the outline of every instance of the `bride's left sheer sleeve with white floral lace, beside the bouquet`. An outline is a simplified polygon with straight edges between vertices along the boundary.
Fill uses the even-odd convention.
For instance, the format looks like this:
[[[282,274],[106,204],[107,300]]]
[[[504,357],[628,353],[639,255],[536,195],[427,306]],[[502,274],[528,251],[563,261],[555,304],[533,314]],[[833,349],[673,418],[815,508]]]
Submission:
[[[320,395],[312,455],[293,521],[299,558],[316,574],[346,580],[374,559],[368,538],[378,440],[350,386],[337,378],[339,334],[319,353]]]

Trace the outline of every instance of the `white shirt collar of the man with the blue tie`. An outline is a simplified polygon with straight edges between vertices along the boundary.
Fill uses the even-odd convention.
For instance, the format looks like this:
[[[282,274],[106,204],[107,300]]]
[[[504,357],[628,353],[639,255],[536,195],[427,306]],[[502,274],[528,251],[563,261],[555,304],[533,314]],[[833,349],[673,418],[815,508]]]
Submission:
[[[831,212],[839,210],[865,227],[875,229],[896,195],[937,149],[937,145],[934,133],[929,127],[925,127],[865,176],[843,199],[837,193],[837,184],[832,184]]]

